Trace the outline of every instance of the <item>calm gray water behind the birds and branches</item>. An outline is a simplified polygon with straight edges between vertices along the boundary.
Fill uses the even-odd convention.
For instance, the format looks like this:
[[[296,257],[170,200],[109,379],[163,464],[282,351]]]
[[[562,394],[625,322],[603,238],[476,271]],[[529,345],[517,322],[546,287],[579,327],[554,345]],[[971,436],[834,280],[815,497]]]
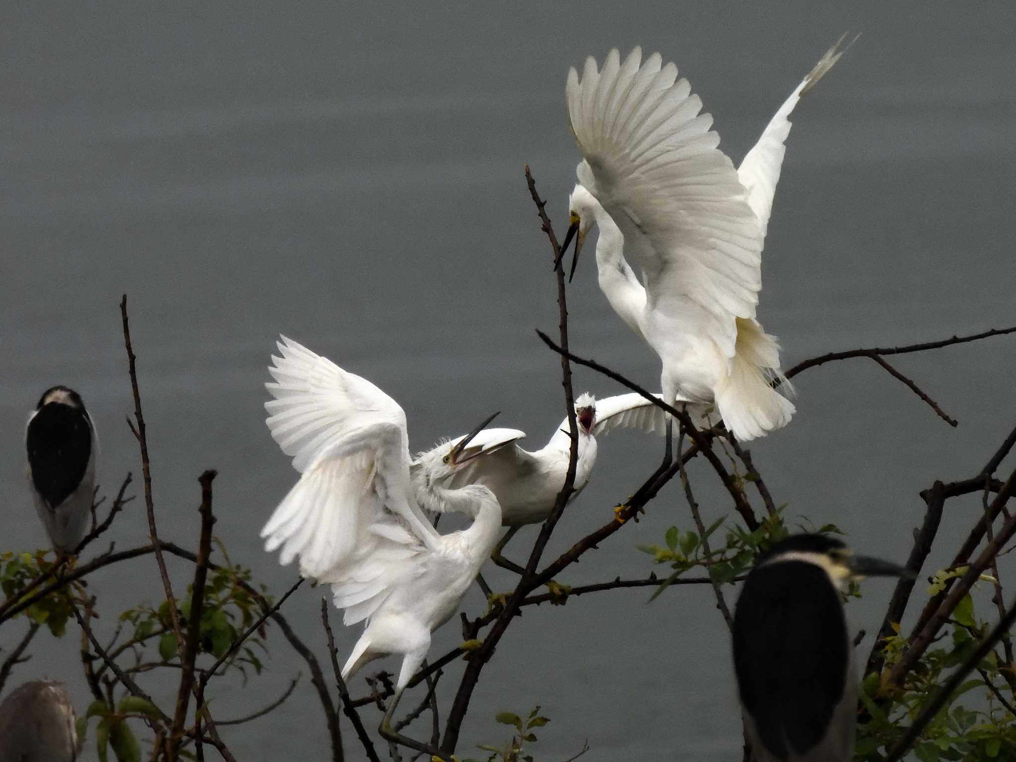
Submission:
[[[257,0],[14,3],[2,15],[3,549],[44,543],[24,487],[22,432],[46,387],[83,395],[105,491],[139,470],[124,423],[125,292],[161,532],[196,542],[196,478],[217,468],[216,532],[273,592],[296,576],[257,538],[295,479],[263,424],[278,332],[390,393],[414,447],[494,409],[539,446],[563,403],[558,361],[532,331],[555,330],[557,308],[522,165],[560,232],[577,161],[565,75],[614,46],[641,44],[676,61],[740,162],[823,51],[845,30],[863,33],[795,114],[769,226],[759,315],[780,336],[787,366],[1016,323],[1008,3]],[[569,292],[573,346],[656,386],[658,361],[612,313],[593,269],[590,256]],[[866,553],[902,560],[923,515],[916,493],[935,479],[972,475],[1011,429],[1013,340],[897,361],[959,419],[955,430],[873,363],[799,377],[792,424],[752,446],[777,502],[791,517],[836,522]],[[622,391],[581,369],[576,387]],[[549,554],[608,519],[655,466],[658,446],[628,432],[601,441],[593,481]],[[691,475],[707,521],[729,509],[704,464]],[[932,564],[947,563],[975,510],[972,498],[950,503]],[[691,526],[676,486],[561,581],[645,575],[636,544],[660,543],[673,523]],[[138,500],[110,538],[127,548],[146,531]],[[522,551],[521,538],[514,547]],[[189,568],[172,570],[182,589]],[[499,571],[487,573],[505,586]],[[100,632],[156,589],[153,560],[96,576]],[[889,590],[867,583],[865,599],[849,606],[851,626],[877,629]],[[300,590],[285,614],[323,660],[320,592]],[[675,589],[652,604],[648,594],[526,610],[484,672],[460,754],[506,737],[495,712],[538,703],[553,718],[534,747],[541,759],[568,757],[584,739],[590,762],[740,759],[728,640],[711,592]],[[990,591],[975,596],[987,613]],[[465,605],[475,612],[480,593]],[[64,680],[83,708],[70,629],[63,641],[41,635],[11,685]],[[439,631],[433,653],[456,643],[457,630]],[[0,646],[20,631],[4,627]],[[357,636],[339,630],[340,657]],[[242,760],[324,759],[305,665],[276,633],[270,644],[267,672],[220,689],[216,715],[259,707],[303,672],[300,686],[270,718],[226,739]],[[445,711],[459,671],[442,683]],[[144,683],[167,703],[174,695],[169,682]],[[373,710],[365,714],[375,724]],[[93,754],[89,744],[85,759]]]

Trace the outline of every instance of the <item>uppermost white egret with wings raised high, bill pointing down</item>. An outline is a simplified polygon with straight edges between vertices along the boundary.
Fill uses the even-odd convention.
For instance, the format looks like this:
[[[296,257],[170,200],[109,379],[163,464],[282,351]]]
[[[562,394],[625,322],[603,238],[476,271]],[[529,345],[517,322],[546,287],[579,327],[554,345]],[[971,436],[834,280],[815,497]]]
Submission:
[[[673,63],[611,51],[568,73],[568,117],[582,153],[569,199],[572,273],[599,228],[599,287],[662,361],[664,400],[715,402],[749,440],[785,426],[793,405],[772,388],[779,344],[755,319],[761,254],[789,132],[787,115],[841,55],[834,46],[779,109],[740,170],[716,146],[712,117]],[[642,274],[636,276],[630,260]],[[788,386],[783,383],[783,388]],[[670,443],[670,437],[668,437]],[[670,448],[668,448],[668,460]]]

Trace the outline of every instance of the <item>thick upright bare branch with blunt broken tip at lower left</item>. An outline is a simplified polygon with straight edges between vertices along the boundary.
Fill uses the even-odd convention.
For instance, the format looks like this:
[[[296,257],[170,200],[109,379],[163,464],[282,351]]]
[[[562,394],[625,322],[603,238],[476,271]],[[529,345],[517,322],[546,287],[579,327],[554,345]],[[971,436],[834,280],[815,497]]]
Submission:
[[[184,654],[180,660],[182,672],[180,687],[177,690],[177,706],[173,714],[173,726],[170,729],[170,757],[176,754],[183,734],[184,721],[187,719],[187,707],[190,703],[191,689],[194,687],[194,663],[197,659],[198,647],[201,643],[201,611],[204,608],[204,583],[208,576],[208,559],[211,556],[211,527],[215,517],[211,511],[211,483],[215,479],[214,470],[206,470],[198,479],[201,485],[201,505],[198,513],[201,516],[201,533],[197,546],[197,563],[194,565],[194,582],[191,585],[190,616],[187,619],[187,641],[184,643]],[[195,696],[200,710],[204,703],[204,686],[202,682]],[[201,720],[197,722],[195,743],[201,746]]]

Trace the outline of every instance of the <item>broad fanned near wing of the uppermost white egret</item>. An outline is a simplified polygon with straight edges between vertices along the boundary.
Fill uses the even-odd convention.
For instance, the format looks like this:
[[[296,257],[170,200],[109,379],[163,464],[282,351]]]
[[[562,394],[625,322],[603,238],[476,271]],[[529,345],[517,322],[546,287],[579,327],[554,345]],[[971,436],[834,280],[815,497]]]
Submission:
[[[701,100],[673,63],[641,57],[613,50],[602,71],[592,58],[581,79],[569,71],[578,178],[621,229],[648,308],[729,358],[735,318],[755,317],[763,236]]]

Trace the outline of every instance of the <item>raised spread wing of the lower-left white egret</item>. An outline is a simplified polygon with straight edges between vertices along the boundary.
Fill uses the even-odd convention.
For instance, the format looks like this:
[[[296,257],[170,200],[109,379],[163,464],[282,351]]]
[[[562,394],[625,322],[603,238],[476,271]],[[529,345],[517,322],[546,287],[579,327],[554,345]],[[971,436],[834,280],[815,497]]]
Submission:
[[[282,337],[265,384],[272,438],[302,473],[261,530],[280,562],[327,579],[365,548],[377,526],[401,527],[432,547],[437,532],[407,500],[405,414],[366,379]],[[388,513],[390,511],[390,513]],[[382,530],[383,531],[383,530]]]

